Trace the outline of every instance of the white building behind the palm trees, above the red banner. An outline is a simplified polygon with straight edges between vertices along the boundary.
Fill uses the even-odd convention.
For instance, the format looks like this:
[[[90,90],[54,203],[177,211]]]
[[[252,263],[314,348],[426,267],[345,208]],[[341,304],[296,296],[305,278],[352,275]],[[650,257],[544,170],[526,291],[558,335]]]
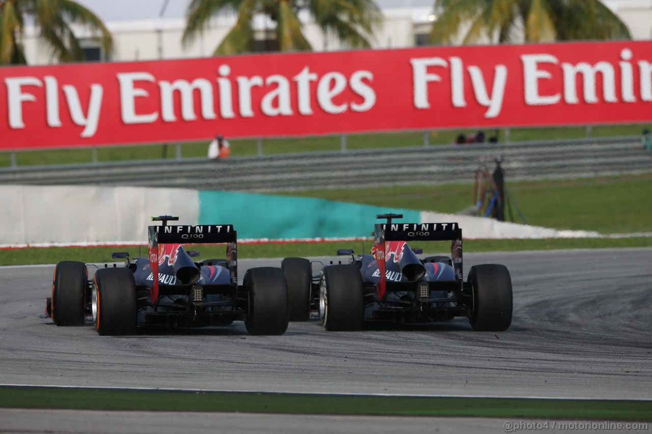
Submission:
[[[190,46],[181,44],[185,28],[185,10],[189,0],[76,0],[93,10],[113,34],[112,53],[103,53],[98,41],[79,28],[87,57],[92,60],[145,61],[206,57],[235,23],[235,16],[217,16],[203,35]],[[427,44],[434,0],[376,0],[384,20],[372,40],[372,48],[409,48]],[[603,0],[625,22],[634,39],[652,39],[652,0]],[[304,35],[315,51],[348,49],[333,38],[325,38],[310,16],[300,17]],[[273,23],[260,17],[254,24],[260,51],[264,51],[267,34]],[[29,65],[54,63],[48,49],[27,28],[25,55]]]

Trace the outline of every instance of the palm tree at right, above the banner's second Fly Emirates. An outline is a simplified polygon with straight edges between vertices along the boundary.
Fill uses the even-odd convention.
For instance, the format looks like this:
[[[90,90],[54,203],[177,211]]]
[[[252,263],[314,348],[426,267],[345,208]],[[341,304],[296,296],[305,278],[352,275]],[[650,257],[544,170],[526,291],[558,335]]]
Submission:
[[[463,43],[630,39],[627,25],[600,0],[435,0],[437,21],[430,40]]]

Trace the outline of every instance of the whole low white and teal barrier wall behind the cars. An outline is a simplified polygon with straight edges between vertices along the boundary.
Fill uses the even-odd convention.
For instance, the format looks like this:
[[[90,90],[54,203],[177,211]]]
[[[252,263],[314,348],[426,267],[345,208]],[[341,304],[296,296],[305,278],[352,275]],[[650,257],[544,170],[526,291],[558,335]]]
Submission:
[[[471,239],[599,237],[487,218],[391,209],[310,197],[181,188],[0,186],[0,247],[145,244],[150,217],[179,224],[233,224],[240,240],[366,238],[376,214],[403,222],[458,222]]]

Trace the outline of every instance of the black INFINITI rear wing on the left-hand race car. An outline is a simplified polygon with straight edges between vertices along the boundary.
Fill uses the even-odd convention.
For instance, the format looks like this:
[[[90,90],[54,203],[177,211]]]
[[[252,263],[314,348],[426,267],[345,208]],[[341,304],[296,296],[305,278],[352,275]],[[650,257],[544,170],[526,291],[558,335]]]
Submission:
[[[160,244],[207,244],[226,243],[226,260],[230,271],[231,284],[237,285],[237,232],[233,225],[174,225],[168,226],[168,220],[179,220],[175,216],[153,217],[162,221],[161,226],[147,227],[149,244],[149,265],[153,272],[152,300],[158,298],[158,263]],[[181,246],[179,246],[181,248]],[[174,259],[176,261],[176,258]]]

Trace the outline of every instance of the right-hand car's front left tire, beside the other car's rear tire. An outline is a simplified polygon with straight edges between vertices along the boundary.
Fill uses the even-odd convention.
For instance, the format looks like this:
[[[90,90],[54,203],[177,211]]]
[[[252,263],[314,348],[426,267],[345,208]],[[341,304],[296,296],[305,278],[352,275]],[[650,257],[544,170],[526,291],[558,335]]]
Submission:
[[[289,321],[310,319],[310,292],[312,290],[312,267],[303,257],[286,257],[281,270],[288,283]]]

